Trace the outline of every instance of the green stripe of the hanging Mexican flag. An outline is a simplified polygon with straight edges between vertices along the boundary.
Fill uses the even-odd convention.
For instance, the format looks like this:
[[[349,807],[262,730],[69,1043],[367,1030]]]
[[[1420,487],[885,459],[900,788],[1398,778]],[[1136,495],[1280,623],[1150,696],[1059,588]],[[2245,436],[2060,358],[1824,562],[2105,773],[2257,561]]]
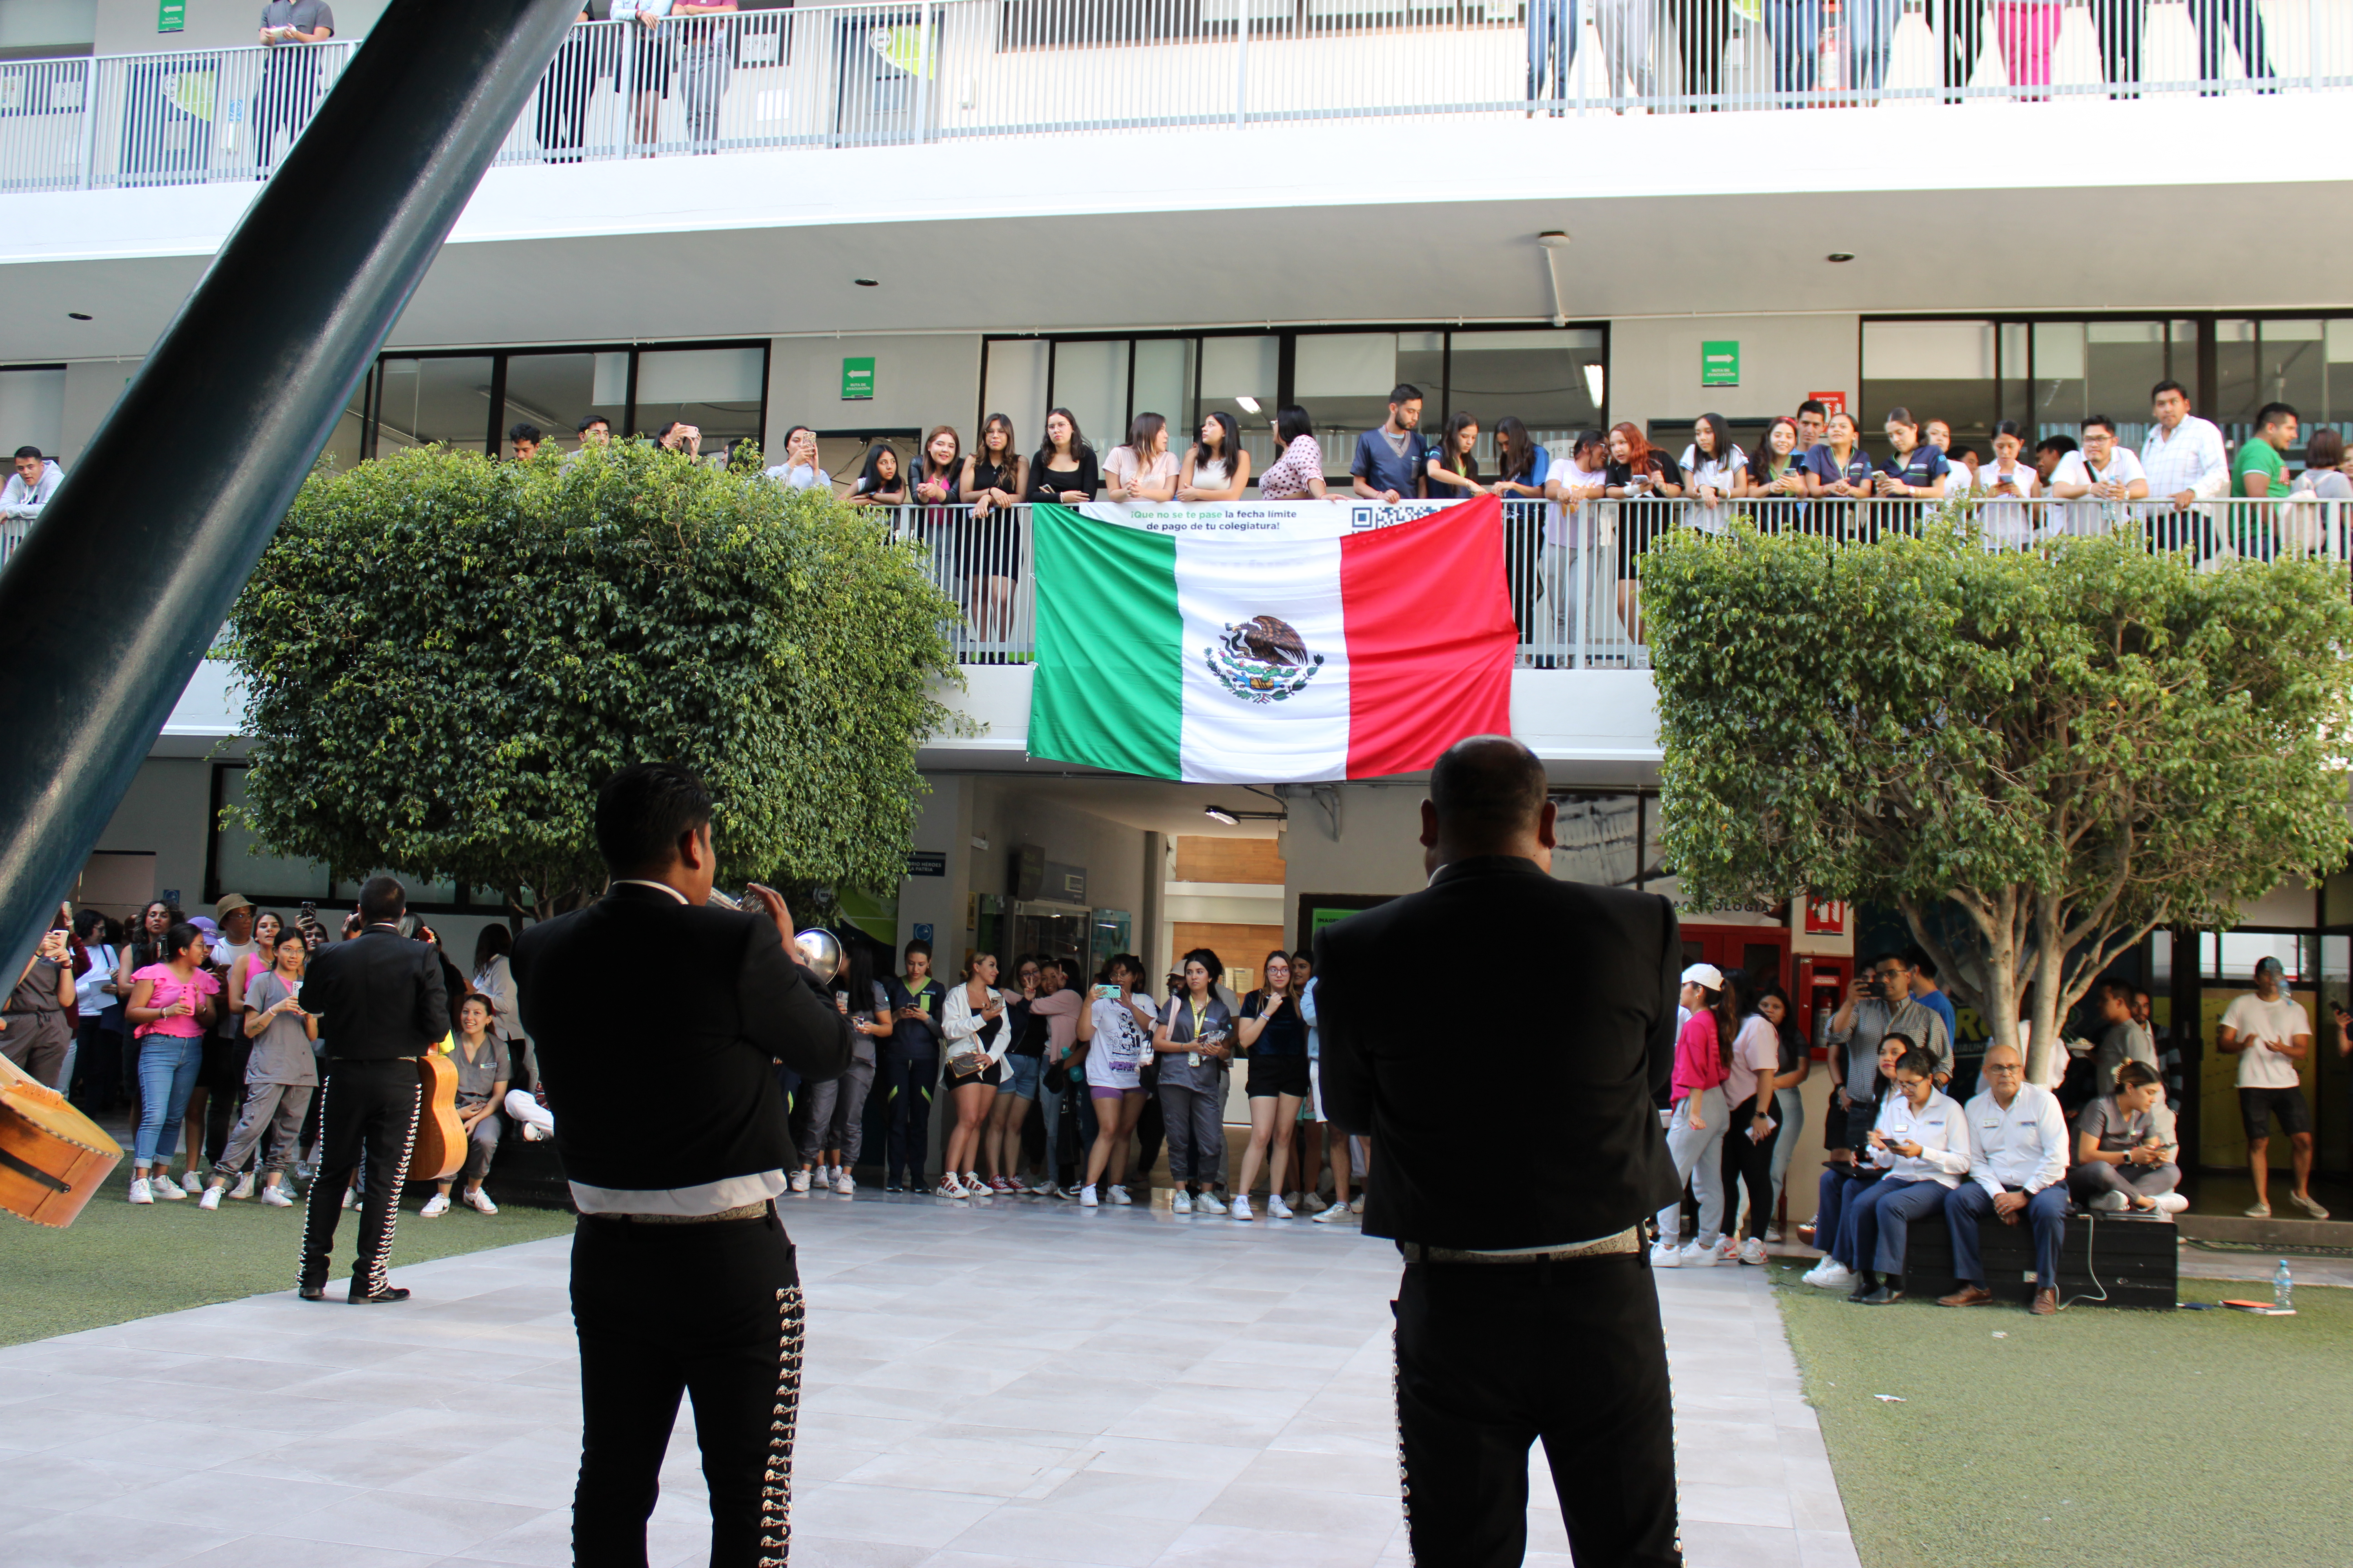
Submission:
[[[1028,755],[1179,778],[1184,618],[1176,541],[1031,508],[1038,672]]]

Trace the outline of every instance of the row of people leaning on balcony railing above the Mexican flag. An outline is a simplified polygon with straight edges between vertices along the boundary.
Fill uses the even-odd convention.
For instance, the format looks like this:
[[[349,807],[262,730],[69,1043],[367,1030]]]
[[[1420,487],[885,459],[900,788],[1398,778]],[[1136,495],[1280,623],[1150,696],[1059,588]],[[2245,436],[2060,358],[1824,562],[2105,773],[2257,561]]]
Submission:
[[[1398,386],[1388,416],[1355,437],[1346,475],[1351,491],[1369,501],[1459,501],[1504,496],[1511,501],[1642,501],[1671,498],[1722,505],[1725,501],[1951,501],[1981,498],[1988,505],[2028,501],[2153,501],[2181,508],[2202,501],[2346,501],[2353,498],[2344,437],[2318,425],[2304,454],[2304,470],[2289,477],[2287,451],[2299,437],[2299,414],[2285,402],[2266,404],[2254,435],[2233,456],[2221,430],[2191,414],[2188,393],[2177,381],[2151,390],[2151,428],[2141,449],[2118,440],[2118,421],[2094,414],[2082,421],[2082,440],[2047,435],[2028,449],[2017,421],[2000,421],[1984,449],[1955,442],[1944,418],[1920,418],[1889,409],[1880,423],[1889,456],[1864,449],[1854,414],[1819,400],[1767,421],[1753,451],[1732,440],[1722,414],[1701,414],[1682,454],[1654,447],[1640,425],[1624,421],[1607,430],[1581,430],[1555,451],[1529,437],[1525,421],[1501,416],[1492,440],[1480,416],[1457,409],[1438,440],[1421,433],[1424,395]],[[1035,451],[1021,451],[1012,418],[991,414],[979,442],[965,449],[953,425],[934,425],[922,447],[901,456],[875,442],[847,487],[816,463],[816,435],[793,425],[784,463],[769,477],[793,487],[845,489],[859,505],[969,505],[993,510],[1059,501],[1242,501],[1252,480],[1266,501],[1304,501],[1327,494],[1327,454],[1315,423],[1301,407],[1275,414],[1278,456],[1252,473],[1238,421],[1224,411],[1202,416],[1200,428],[1172,444],[1167,418],[1136,414],[1127,437],[1101,451],[1080,430],[1071,409],[1045,416]],[[1489,456],[1482,461],[1480,449]]]

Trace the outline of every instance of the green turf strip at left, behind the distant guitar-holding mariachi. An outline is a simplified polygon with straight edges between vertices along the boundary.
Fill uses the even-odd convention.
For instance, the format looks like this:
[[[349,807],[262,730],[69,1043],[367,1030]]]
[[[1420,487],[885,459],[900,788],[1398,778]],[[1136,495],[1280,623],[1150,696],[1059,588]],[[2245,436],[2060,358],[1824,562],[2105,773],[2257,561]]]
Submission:
[[[205,1213],[193,1197],[127,1204],[127,1185],[129,1178],[111,1178],[68,1229],[0,1213],[0,1345],[294,1288],[301,1204],[264,1208],[259,1199],[224,1199]],[[336,1227],[329,1300],[348,1288],[358,1229],[358,1211]],[[438,1220],[419,1220],[412,1199],[393,1232],[395,1279],[402,1262],[569,1229],[569,1213],[520,1206],[482,1215],[459,1204]]]

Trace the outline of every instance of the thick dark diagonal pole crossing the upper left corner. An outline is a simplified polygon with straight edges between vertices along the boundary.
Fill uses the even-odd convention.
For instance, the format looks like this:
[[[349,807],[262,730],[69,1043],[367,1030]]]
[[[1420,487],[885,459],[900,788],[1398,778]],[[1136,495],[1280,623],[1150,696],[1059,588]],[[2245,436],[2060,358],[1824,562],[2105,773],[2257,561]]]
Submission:
[[[576,14],[393,0],[0,571],[0,980]]]

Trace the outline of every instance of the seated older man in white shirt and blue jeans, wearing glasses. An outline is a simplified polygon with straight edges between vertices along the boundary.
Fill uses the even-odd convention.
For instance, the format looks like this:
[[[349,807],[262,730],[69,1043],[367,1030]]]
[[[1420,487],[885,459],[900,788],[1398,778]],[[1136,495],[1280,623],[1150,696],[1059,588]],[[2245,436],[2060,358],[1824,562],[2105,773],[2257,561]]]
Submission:
[[[2125,1063],[2137,1067],[2139,1063]],[[2059,1312],[2059,1241],[2066,1237],[2066,1117],[2059,1098],[2026,1081],[2017,1046],[1988,1046],[1977,1070],[1986,1081],[1969,1098],[1969,1180],[1944,1206],[1953,1229],[1953,1274],[1960,1288],[1939,1307],[1981,1307],[1993,1300],[1977,1222],[1988,1213],[2002,1225],[2035,1227],[2035,1300],[2031,1312]]]

